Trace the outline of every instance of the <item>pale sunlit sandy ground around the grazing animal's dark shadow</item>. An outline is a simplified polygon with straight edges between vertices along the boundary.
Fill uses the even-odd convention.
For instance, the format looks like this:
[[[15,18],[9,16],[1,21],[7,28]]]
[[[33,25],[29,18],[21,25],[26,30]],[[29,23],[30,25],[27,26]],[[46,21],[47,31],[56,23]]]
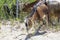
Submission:
[[[0,25],[0,40],[25,40],[27,32],[24,23],[15,22],[14,25],[10,21],[4,23]],[[60,40],[60,31],[32,36],[28,40]]]

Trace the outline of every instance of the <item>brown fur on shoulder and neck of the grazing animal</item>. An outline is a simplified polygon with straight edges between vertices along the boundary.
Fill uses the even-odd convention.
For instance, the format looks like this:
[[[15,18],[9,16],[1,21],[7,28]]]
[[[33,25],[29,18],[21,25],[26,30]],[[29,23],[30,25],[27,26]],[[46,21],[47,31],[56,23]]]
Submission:
[[[34,22],[36,20],[43,21],[44,20],[43,16],[47,14],[46,13],[47,10],[48,10],[48,7],[45,4],[38,6],[37,12],[34,12],[33,16],[30,17],[31,24],[34,25]],[[32,25],[30,26],[30,28],[32,27]]]

